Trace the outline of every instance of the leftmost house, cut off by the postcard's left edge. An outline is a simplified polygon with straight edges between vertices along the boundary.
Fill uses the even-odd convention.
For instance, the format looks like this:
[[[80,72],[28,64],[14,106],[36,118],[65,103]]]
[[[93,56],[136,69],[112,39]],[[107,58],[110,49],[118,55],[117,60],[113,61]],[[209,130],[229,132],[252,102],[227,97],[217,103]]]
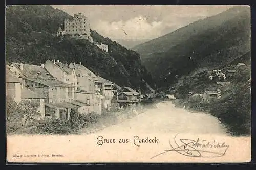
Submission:
[[[6,95],[17,103],[22,101],[21,86],[20,80],[6,67]]]

